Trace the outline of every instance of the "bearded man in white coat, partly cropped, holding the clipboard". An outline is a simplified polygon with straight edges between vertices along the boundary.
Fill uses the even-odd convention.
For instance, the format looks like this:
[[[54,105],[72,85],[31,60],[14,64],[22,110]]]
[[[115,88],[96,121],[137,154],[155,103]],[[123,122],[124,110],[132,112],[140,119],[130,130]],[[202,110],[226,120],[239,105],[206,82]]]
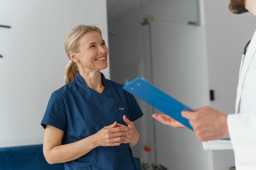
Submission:
[[[229,10],[256,16],[256,0],[230,0]],[[204,149],[234,150],[236,170],[256,170],[256,31],[240,68],[236,96],[236,114],[223,114],[211,107],[194,112],[182,111],[189,119]],[[163,124],[185,128],[168,115],[153,114]],[[230,140],[220,140],[220,139]]]

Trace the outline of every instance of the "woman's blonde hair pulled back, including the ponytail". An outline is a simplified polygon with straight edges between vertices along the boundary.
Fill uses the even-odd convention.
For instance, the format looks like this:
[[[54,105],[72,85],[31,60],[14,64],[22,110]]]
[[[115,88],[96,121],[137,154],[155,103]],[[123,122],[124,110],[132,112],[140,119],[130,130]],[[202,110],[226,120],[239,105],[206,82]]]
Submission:
[[[79,52],[79,40],[81,37],[88,32],[97,31],[101,34],[101,30],[97,26],[91,25],[77,25],[70,30],[67,34],[67,37],[64,42],[64,48],[67,54],[67,57],[70,59],[70,52],[77,53]],[[101,34],[102,36],[102,34]],[[66,66],[64,83],[67,84],[76,78],[76,73],[79,72],[79,69],[72,60],[70,60]]]

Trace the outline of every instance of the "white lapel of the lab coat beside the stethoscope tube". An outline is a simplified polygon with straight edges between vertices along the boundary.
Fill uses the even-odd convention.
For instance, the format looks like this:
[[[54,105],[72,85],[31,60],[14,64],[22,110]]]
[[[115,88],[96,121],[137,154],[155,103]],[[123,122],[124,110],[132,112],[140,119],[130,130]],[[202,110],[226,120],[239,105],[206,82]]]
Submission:
[[[243,84],[245,81],[245,76],[247,73],[247,69],[252,61],[252,58],[254,56],[254,53],[256,51],[256,48],[254,48],[256,46],[256,31],[254,32],[254,35],[252,37],[252,40],[248,46],[247,52],[245,54],[245,60],[243,63],[243,67],[239,76],[239,80],[238,80],[238,86],[237,86],[237,91],[236,91],[236,113],[238,113],[238,108],[239,108],[239,103],[240,103],[240,98],[242,95],[242,91],[243,91]]]

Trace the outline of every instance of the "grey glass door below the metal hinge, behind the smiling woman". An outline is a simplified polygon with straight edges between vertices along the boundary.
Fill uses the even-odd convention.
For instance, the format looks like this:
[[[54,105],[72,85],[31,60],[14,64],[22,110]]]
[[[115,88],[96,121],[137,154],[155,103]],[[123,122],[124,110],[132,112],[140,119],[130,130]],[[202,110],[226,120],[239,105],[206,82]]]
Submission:
[[[144,77],[151,81],[150,24],[133,24],[109,35],[111,80],[125,84],[136,77]],[[137,101],[144,116],[134,122],[140,139],[132,148],[133,155],[145,163],[155,163],[153,108],[140,99]],[[149,146],[150,152],[145,152],[144,146]]]

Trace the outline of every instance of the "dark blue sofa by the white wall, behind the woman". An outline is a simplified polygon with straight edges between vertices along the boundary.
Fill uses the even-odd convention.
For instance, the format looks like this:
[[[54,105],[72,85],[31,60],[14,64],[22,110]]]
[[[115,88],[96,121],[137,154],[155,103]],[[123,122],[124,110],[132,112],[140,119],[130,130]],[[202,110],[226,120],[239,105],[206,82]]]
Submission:
[[[50,165],[43,145],[0,148],[0,170],[64,170],[64,163]]]

